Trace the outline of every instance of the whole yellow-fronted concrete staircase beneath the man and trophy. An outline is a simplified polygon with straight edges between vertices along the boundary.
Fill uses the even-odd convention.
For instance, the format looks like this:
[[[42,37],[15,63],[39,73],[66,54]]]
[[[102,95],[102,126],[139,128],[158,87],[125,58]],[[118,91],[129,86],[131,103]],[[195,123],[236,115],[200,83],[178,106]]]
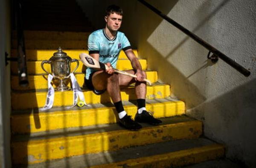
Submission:
[[[31,29],[24,32],[28,87],[18,85],[17,63],[11,63],[13,167],[167,168],[224,157],[224,146],[202,136],[202,122],[185,115],[185,103],[170,97],[170,86],[158,82],[157,72],[147,70],[144,59],[140,63],[154,83],[147,86],[146,108],[161,118],[162,125],[143,124],[139,131],[125,130],[116,124],[115,108],[108,93],[97,96],[87,88],[82,90],[91,107],[66,109],[73,103],[72,91],[55,91],[53,108],[39,112],[47,95],[47,74],[41,69],[41,61],[48,60],[59,46],[71,58],[79,59],[79,53],[88,53],[90,33],[80,29],[77,32]],[[12,42],[16,42],[15,32]],[[138,56],[137,50],[134,53]],[[16,55],[13,45],[12,57]],[[124,52],[120,53],[117,68],[131,69]],[[80,62],[75,74],[80,86],[84,70]],[[137,111],[134,85],[122,89],[121,95],[125,110],[134,117]]]

